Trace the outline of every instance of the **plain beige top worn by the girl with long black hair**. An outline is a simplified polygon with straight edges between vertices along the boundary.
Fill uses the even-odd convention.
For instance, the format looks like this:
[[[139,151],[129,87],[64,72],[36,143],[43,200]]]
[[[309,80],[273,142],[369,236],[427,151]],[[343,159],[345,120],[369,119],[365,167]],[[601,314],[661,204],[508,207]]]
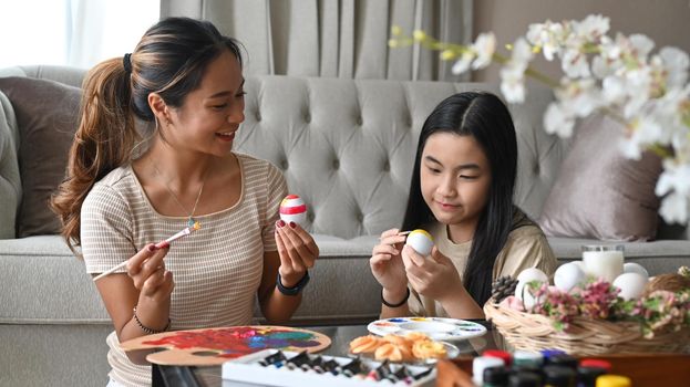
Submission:
[[[462,279],[467,266],[472,241],[454,243],[447,236],[447,227],[439,222],[431,224],[428,231],[433,237],[439,251],[453,262]],[[544,232],[536,223],[529,221],[528,224],[518,227],[508,233],[508,239],[494,261],[492,281],[503,275],[511,275],[515,279],[527,268],[538,268],[550,278],[556,266],[556,257]],[[412,286],[410,286],[408,306],[414,315],[449,317],[440,302],[419,294]]]

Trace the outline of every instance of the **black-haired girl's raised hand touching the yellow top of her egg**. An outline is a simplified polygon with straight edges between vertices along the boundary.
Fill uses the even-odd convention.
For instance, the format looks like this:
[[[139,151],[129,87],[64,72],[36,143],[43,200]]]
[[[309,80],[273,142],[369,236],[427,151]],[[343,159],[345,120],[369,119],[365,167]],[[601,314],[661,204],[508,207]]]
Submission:
[[[381,233],[379,244],[371,251],[371,273],[389,293],[401,294],[408,287],[405,268],[400,259],[404,241],[405,236],[401,236],[399,229],[390,229]]]

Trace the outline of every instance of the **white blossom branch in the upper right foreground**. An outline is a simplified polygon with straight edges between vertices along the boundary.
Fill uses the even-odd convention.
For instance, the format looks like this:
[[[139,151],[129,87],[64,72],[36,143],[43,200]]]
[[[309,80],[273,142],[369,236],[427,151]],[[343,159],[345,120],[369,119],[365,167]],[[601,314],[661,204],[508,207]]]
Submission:
[[[509,103],[523,103],[525,79],[554,88],[555,101],[544,114],[546,132],[573,135],[578,118],[601,111],[622,124],[622,154],[639,159],[650,150],[663,159],[656,194],[667,222],[690,221],[690,60],[677,48],[652,53],[655,43],[642,34],[610,38],[609,19],[589,15],[581,21],[531,24],[512,45],[509,56],[496,52],[496,38],[482,33],[471,45],[437,41],[423,31],[404,36],[392,29],[390,46],[420,44],[455,61],[453,73],[480,70],[492,62],[501,67],[501,92]],[[543,54],[559,60],[563,76],[555,81],[529,63]]]

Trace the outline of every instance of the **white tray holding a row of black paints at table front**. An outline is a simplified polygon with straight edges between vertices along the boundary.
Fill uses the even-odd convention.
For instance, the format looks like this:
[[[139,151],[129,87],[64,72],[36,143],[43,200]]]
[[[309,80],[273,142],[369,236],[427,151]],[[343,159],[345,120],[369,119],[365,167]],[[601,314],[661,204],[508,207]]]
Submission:
[[[223,364],[225,381],[262,386],[433,386],[436,369],[266,349]]]

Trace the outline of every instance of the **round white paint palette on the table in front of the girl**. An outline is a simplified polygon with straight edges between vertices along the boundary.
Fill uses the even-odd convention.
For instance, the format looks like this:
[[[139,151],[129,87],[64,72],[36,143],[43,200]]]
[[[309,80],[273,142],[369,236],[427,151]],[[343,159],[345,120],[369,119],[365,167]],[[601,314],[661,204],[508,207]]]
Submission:
[[[393,317],[377,320],[367,328],[374,335],[406,335],[421,332],[436,341],[459,341],[483,336],[486,327],[465,320],[444,317]]]

